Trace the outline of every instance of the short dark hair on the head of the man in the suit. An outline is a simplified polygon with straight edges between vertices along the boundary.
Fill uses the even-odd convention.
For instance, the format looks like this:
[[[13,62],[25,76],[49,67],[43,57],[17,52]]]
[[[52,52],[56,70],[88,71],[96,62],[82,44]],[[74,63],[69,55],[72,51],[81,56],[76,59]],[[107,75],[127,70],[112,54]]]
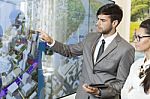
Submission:
[[[118,24],[119,24],[120,21],[122,20],[123,11],[118,5],[114,3],[109,3],[98,9],[96,15],[98,16],[100,14],[110,15],[111,21],[113,22],[114,20],[118,20]]]

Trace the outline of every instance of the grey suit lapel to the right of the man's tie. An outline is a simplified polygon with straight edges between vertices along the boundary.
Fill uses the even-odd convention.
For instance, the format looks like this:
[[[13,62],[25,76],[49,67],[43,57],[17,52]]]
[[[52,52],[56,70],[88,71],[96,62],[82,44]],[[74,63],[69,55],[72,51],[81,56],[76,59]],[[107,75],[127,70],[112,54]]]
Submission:
[[[117,36],[114,38],[114,40],[108,45],[108,47],[106,48],[104,53],[99,57],[99,59],[97,60],[95,65],[117,47],[119,39],[120,39],[120,36],[119,36],[119,34],[117,34]]]

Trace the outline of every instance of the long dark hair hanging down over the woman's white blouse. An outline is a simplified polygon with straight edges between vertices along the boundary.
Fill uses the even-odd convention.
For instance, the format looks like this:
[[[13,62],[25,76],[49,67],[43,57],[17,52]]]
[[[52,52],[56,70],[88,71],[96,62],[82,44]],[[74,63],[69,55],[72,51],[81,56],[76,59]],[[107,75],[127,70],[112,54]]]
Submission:
[[[148,93],[148,90],[150,89],[150,67],[146,69],[145,74],[146,76],[142,82],[142,86],[144,87],[144,92]]]

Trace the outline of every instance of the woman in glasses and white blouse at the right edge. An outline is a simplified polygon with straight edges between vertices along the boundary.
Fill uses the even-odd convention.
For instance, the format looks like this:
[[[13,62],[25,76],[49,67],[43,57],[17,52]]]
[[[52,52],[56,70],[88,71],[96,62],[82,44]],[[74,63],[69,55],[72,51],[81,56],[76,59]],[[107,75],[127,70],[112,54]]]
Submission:
[[[150,99],[150,19],[140,24],[134,38],[136,50],[145,57],[132,64],[121,99]]]

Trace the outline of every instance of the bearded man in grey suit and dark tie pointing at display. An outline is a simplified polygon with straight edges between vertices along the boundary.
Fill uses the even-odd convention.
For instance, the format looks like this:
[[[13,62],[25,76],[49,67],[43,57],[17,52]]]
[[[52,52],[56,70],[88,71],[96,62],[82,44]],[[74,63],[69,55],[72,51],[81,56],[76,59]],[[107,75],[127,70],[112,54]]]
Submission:
[[[120,94],[135,52],[116,31],[122,16],[123,12],[118,5],[112,3],[102,6],[97,11],[98,32],[89,33],[82,42],[73,45],[57,42],[39,30],[41,38],[53,51],[66,57],[83,55],[76,99],[114,99]],[[104,52],[98,56],[102,48]],[[103,87],[90,84],[102,84]]]

